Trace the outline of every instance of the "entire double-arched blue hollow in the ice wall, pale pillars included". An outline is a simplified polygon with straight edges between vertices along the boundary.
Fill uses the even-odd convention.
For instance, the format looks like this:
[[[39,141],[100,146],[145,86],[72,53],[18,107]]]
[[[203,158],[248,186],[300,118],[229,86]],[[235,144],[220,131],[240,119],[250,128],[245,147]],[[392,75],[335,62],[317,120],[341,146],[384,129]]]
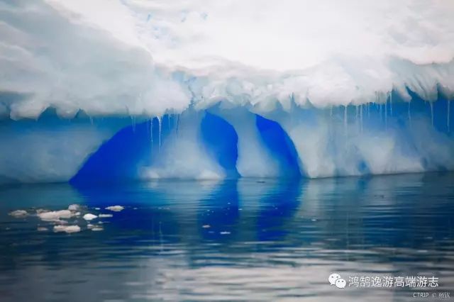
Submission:
[[[300,176],[297,152],[278,123],[247,111],[229,118],[237,129],[221,116],[204,111],[167,114],[128,125],[90,155],[71,182]],[[260,165],[271,174],[258,173]]]

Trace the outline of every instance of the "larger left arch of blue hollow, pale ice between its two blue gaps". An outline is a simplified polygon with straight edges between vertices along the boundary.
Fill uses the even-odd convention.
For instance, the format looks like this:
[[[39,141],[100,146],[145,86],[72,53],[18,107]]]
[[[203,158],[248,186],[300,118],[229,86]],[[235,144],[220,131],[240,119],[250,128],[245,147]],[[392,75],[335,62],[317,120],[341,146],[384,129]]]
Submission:
[[[216,127],[228,133],[228,125],[211,116],[206,120],[203,112],[132,123],[90,155],[71,182],[236,176],[235,133],[230,145],[220,145],[222,141],[207,130]]]

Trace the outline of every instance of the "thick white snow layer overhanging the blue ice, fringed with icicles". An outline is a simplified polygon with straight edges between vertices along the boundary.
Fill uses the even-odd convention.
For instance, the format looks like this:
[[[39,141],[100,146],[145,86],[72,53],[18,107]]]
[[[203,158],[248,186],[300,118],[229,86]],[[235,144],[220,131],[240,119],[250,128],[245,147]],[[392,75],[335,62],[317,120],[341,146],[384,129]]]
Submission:
[[[438,0],[6,3],[0,91],[21,97],[0,115],[326,107],[405,86],[433,99],[437,84],[453,96],[453,15]]]

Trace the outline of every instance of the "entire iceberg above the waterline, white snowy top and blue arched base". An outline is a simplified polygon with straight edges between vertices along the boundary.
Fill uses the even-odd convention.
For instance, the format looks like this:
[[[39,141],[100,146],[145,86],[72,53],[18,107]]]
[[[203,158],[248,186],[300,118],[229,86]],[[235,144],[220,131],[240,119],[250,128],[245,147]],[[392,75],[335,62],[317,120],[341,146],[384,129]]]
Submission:
[[[454,169],[452,1],[0,1],[0,181]]]

